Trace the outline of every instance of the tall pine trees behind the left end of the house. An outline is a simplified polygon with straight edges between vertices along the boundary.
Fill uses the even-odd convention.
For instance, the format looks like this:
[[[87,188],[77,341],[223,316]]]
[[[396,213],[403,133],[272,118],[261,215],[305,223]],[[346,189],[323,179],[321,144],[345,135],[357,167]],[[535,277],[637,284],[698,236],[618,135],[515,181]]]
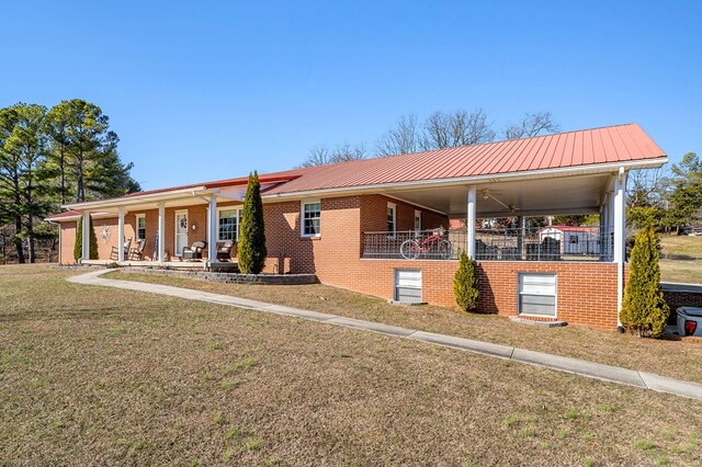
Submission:
[[[107,115],[80,99],[0,109],[0,227],[18,262],[35,262],[36,242],[56,238],[43,218],[60,205],[140,190],[118,143]]]

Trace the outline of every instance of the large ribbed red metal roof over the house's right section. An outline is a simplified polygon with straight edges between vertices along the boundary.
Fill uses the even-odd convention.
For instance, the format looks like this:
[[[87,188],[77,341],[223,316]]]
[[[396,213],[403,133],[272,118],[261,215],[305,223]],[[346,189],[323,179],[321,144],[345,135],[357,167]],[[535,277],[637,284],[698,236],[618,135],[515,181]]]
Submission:
[[[665,156],[634,123],[304,169],[301,176],[267,194],[498,175]]]

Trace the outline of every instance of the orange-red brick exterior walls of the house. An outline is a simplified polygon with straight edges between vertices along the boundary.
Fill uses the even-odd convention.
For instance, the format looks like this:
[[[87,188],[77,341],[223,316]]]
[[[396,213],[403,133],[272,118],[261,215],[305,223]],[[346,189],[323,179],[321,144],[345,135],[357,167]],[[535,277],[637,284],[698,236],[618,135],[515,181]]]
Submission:
[[[321,235],[319,238],[301,236],[301,202],[267,203],[264,205],[268,260],[265,272],[313,273],[320,282],[351,291],[393,298],[395,271],[397,269],[421,270],[422,300],[448,307],[455,306],[453,276],[457,261],[432,260],[371,260],[361,259],[362,232],[387,229],[387,203],[397,205],[397,230],[414,229],[415,209],[411,204],[382,195],[343,196],[321,200]],[[222,205],[231,205],[226,203]],[[188,209],[188,243],[206,240],[206,208],[193,205],[186,208],[166,209],[166,250],[173,253],[174,213]],[[420,208],[418,208],[420,209]],[[422,210],[422,229],[449,227],[445,216]],[[126,216],[125,235],[134,238],[138,212]],[[150,257],[154,237],[158,230],[158,210],[146,214],[147,246],[145,255]],[[105,220],[109,221],[110,219]],[[111,219],[116,240],[116,219]],[[101,221],[95,224],[98,229]],[[64,239],[75,231],[75,223],[61,228]],[[70,246],[68,244],[70,243]],[[116,244],[116,243],[115,243]],[[61,261],[72,263],[72,240],[63,241]],[[110,249],[101,249],[101,259],[109,258]],[[104,254],[104,257],[103,257]],[[236,248],[234,255],[236,255]],[[283,262],[283,258],[285,261]],[[613,263],[566,262],[482,262],[480,309],[506,316],[517,315],[518,273],[550,272],[557,274],[557,318],[574,324],[614,329],[616,327],[616,265]]]

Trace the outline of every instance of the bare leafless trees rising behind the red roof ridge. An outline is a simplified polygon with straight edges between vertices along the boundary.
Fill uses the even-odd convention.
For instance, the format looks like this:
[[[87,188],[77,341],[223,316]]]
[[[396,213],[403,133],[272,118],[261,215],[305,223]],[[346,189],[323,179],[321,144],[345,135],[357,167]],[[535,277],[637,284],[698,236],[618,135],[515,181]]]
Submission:
[[[525,138],[559,130],[561,125],[551,112],[526,113],[518,123],[507,125],[499,132],[483,109],[437,111],[423,122],[419,122],[416,115],[403,115],[394,128],[377,139],[374,152],[364,144],[343,143],[333,149],[317,145],[309,150],[302,167],[478,145],[491,143],[498,137]]]

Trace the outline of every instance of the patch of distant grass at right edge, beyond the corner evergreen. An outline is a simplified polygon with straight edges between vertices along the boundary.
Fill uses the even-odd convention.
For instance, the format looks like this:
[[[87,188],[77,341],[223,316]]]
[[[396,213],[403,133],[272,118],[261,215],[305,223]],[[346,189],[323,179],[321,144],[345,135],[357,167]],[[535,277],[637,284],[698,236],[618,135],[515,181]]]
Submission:
[[[660,277],[665,282],[702,284],[702,237],[660,237]]]

